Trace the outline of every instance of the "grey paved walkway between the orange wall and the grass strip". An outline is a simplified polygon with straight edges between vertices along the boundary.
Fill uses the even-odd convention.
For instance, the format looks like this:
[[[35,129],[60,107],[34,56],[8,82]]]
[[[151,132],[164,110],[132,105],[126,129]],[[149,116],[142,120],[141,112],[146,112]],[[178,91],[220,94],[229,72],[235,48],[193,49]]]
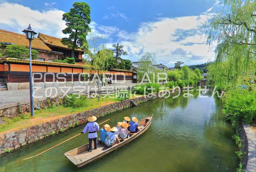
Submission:
[[[119,87],[130,87],[136,85],[136,83],[125,83],[124,84],[111,84],[111,87],[116,88],[116,86]],[[94,91],[94,85],[90,85],[90,91]],[[102,88],[100,87],[100,90]],[[54,96],[54,95],[64,95],[64,92],[67,93],[74,93],[74,92],[79,92],[82,91],[82,88],[75,88],[75,89],[47,89],[47,88],[42,88],[42,89],[38,89],[35,90],[34,89],[34,95],[35,95],[35,99],[38,98],[46,98],[46,97],[50,97],[50,96]],[[86,90],[84,92],[88,92],[88,87],[86,87]],[[30,96],[29,96],[29,89],[22,89],[22,90],[11,90],[11,91],[0,91],[0,109],[2,109],[4,106],[9,106],[11,107],[12,105],[15,106],[15,104],[26,104],[26,102],[29,103],[30,100]],[[24,103],[25,102],[25,103]]]

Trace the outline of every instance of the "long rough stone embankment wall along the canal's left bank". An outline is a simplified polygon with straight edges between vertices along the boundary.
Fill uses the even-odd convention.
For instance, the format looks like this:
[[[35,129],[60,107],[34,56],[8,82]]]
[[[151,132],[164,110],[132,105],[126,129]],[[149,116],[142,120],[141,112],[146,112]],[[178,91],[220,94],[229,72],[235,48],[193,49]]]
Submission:
[[[48,137],[49,135],[56,134],[57,132],[62,132],[68,128],[74,127],[75,125],[81,125],[86,123],[86,119],[91,116],[105,116],[111,112],[122,110],[124,108],[133,106],[134,104],[140,104],[147,102],[148,100],[156,99],[163,95],[163,92],[155,94],[152,98],[147,96],[142,96],[138,98],[128,99],[121,102],[112,103],[99,108],[94,108],[88,111],[80,112],[74,115],[65,116],[50,122],[40,123],[25,129],[20,129],[17,131],[12,131],[10,133],[0,134],[0,154],[9,152],[30,144],[32,142],[38,141],[39,139]],[[50,100],[52,102],[59,102],[60,100]],[[48,102],[43,101],[40,106],[44,107]]]

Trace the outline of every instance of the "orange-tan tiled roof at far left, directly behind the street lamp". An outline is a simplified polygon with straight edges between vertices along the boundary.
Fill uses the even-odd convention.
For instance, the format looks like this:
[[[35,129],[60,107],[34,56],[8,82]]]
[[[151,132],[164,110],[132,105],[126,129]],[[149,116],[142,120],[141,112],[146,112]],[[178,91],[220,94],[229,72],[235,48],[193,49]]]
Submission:
[[[26,35],[17,34],[14,32],[1,30],[1,29],[0,29],[0,42],[13,43],[16,45],[29,47],[29,40],[26,38]],[[52,51],[39,38],[34,38],[32,40],[31,46],[33,49]]]

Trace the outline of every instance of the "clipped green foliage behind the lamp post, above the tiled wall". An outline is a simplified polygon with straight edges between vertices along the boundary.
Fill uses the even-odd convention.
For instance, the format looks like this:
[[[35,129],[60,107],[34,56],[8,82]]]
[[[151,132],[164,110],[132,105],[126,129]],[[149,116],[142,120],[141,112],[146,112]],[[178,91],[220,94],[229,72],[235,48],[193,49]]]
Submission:
[[[3,55],[10,58],[25,59],[29,58],[29,49],[20,45],[7,45]],[[31,49],[31,57],[33,60],[37,59],[38,51]]]

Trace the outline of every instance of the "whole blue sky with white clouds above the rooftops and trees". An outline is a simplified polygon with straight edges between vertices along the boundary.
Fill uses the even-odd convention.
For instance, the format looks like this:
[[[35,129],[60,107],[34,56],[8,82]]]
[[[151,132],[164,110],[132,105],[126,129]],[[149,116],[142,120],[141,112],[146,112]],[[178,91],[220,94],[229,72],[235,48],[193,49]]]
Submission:
[[[35,31],[62,38],[61,19],[75,1],[0,0],[0,29],[17,33],[29,23]],[[172,67],[176,61],[201,64],[213,57],[216,45],[206,45],[202,24],[221,9],[218,0],[88,0],[91,29],[106,47],[124,45],[137,61],[154,52],[157,62]]]

